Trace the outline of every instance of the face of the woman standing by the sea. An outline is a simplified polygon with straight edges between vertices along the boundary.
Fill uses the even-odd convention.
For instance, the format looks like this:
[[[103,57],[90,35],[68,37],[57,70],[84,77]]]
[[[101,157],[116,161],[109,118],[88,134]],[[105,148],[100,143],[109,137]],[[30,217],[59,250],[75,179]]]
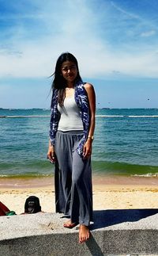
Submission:
[[[66,82],[73,82],[77,77],[77,66],[72,61],[64,61],[62,63],[62,76],[66,79]]]

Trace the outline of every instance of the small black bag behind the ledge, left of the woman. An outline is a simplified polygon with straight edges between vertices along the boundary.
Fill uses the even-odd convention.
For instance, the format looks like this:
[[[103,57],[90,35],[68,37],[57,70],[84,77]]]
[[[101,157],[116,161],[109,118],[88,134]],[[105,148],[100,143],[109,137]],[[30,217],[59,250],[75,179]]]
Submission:
[[[41,212],[40,199],[35,196],[28,197],[24,204],[24,213]]]

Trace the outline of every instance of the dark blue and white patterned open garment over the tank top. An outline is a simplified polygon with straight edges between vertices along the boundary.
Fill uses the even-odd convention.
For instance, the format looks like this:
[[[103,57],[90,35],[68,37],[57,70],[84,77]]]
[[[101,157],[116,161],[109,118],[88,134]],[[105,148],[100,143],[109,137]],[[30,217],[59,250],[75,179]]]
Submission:
[[[83,146],[85,141],[88,138],[88,130],[89,130],[89,122],[90,122],[90,112],[89,112],[89,103],[88,103],[88,95],[85,90],[85,86],[83,82],[77,82],[74,87],[75,93],[74,98],[77,103],[77,106],[80,109],[81,120],[84,127],[84,136],[81,139],[81,143],[77,147],[77,153],[83,156]],[[60,113],[58,112],[58,90],[54,89],[51,100],[51,121],[50,121],[50,139],[51,145],[55,145],[55,136],[58,131],[58,121],[60,119]]]

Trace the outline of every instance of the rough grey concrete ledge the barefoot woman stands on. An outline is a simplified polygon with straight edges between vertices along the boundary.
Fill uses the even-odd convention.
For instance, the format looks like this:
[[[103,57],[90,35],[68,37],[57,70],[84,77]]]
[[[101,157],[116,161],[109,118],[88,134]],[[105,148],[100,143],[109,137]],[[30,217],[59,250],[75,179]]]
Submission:
[[[0,217],[0,255],[158,255],[158,209],[94,212],[91,239],[78,243],[61,214]]]

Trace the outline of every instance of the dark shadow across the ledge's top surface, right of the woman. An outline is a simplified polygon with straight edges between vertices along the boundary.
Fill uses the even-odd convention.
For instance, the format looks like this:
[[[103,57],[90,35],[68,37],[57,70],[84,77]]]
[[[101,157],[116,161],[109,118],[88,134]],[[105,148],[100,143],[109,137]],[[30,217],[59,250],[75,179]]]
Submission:
[[[158,209],[121,209],[94,211],[91,230],[124,222],[134,222],[155,215]]]

